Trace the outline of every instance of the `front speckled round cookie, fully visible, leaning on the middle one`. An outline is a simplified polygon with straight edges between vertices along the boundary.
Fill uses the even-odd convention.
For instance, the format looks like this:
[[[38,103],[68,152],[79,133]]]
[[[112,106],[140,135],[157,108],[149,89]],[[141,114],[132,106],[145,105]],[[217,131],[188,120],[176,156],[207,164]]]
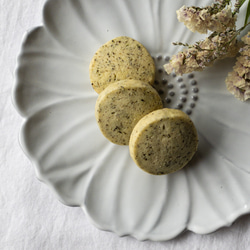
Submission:
[[[163,175],[183,168],[198,147],[196,128],[184,112],[156,110],[134,127],[129,150],[132,159],[144,171]]]

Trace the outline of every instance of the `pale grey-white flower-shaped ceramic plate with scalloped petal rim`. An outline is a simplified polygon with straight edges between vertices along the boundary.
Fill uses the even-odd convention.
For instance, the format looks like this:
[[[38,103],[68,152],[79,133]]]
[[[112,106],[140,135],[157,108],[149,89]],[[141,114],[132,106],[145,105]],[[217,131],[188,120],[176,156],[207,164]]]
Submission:
[[[25,119],[20,142],[38,178],[63,203],[81,206],[97,227],[139,240],[210,233],[250,211],[250,106],[226,90],[233,60],[181,78],[161,69],[181,49],[172,42],[200,38],[176,19],[184,3],[199,1],[48,1],[44,26],[27,34],[18,59],[13,99]],[[187,112],[197,127],[198,152],[177,173],[141,171],[127,146],[99,132],[88,66],[103,43],[120,35],[145,45],[165,106]]]

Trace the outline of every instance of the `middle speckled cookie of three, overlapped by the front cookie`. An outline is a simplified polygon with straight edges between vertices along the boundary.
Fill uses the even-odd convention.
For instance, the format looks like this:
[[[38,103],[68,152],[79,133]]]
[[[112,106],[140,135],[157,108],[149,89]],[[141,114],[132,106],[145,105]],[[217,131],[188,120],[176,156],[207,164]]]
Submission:
[[[139,80],[122,80],[110,84],[98,96],[95,116],[108,140],[128,145],[136,123],[162,106],[159,94],[151,85]]]

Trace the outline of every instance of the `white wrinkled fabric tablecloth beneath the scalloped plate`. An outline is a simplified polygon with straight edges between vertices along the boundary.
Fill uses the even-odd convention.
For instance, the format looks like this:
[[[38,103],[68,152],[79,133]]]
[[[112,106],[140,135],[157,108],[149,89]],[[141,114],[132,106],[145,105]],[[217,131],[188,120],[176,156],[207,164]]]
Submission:
[[[44,0],[0,0],[0,249],[250,249],[250,216],[210,235],[185,232],[139,242],[96,229],[80,208],[61,204],[38,181],[18,144],[22,118],[11,103],[23,35],[41,25]]]

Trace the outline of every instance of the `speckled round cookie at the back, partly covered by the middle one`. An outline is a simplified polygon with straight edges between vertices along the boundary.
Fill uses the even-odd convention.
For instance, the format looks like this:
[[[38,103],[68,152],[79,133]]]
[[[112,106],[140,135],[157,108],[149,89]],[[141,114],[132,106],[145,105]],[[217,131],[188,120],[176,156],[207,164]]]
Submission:
[[[155,65],[146,48],[138,41],[121,36],[102,45],[89,65],[92,87],[99,94],[110,83],[135,79],[153,84]]]

